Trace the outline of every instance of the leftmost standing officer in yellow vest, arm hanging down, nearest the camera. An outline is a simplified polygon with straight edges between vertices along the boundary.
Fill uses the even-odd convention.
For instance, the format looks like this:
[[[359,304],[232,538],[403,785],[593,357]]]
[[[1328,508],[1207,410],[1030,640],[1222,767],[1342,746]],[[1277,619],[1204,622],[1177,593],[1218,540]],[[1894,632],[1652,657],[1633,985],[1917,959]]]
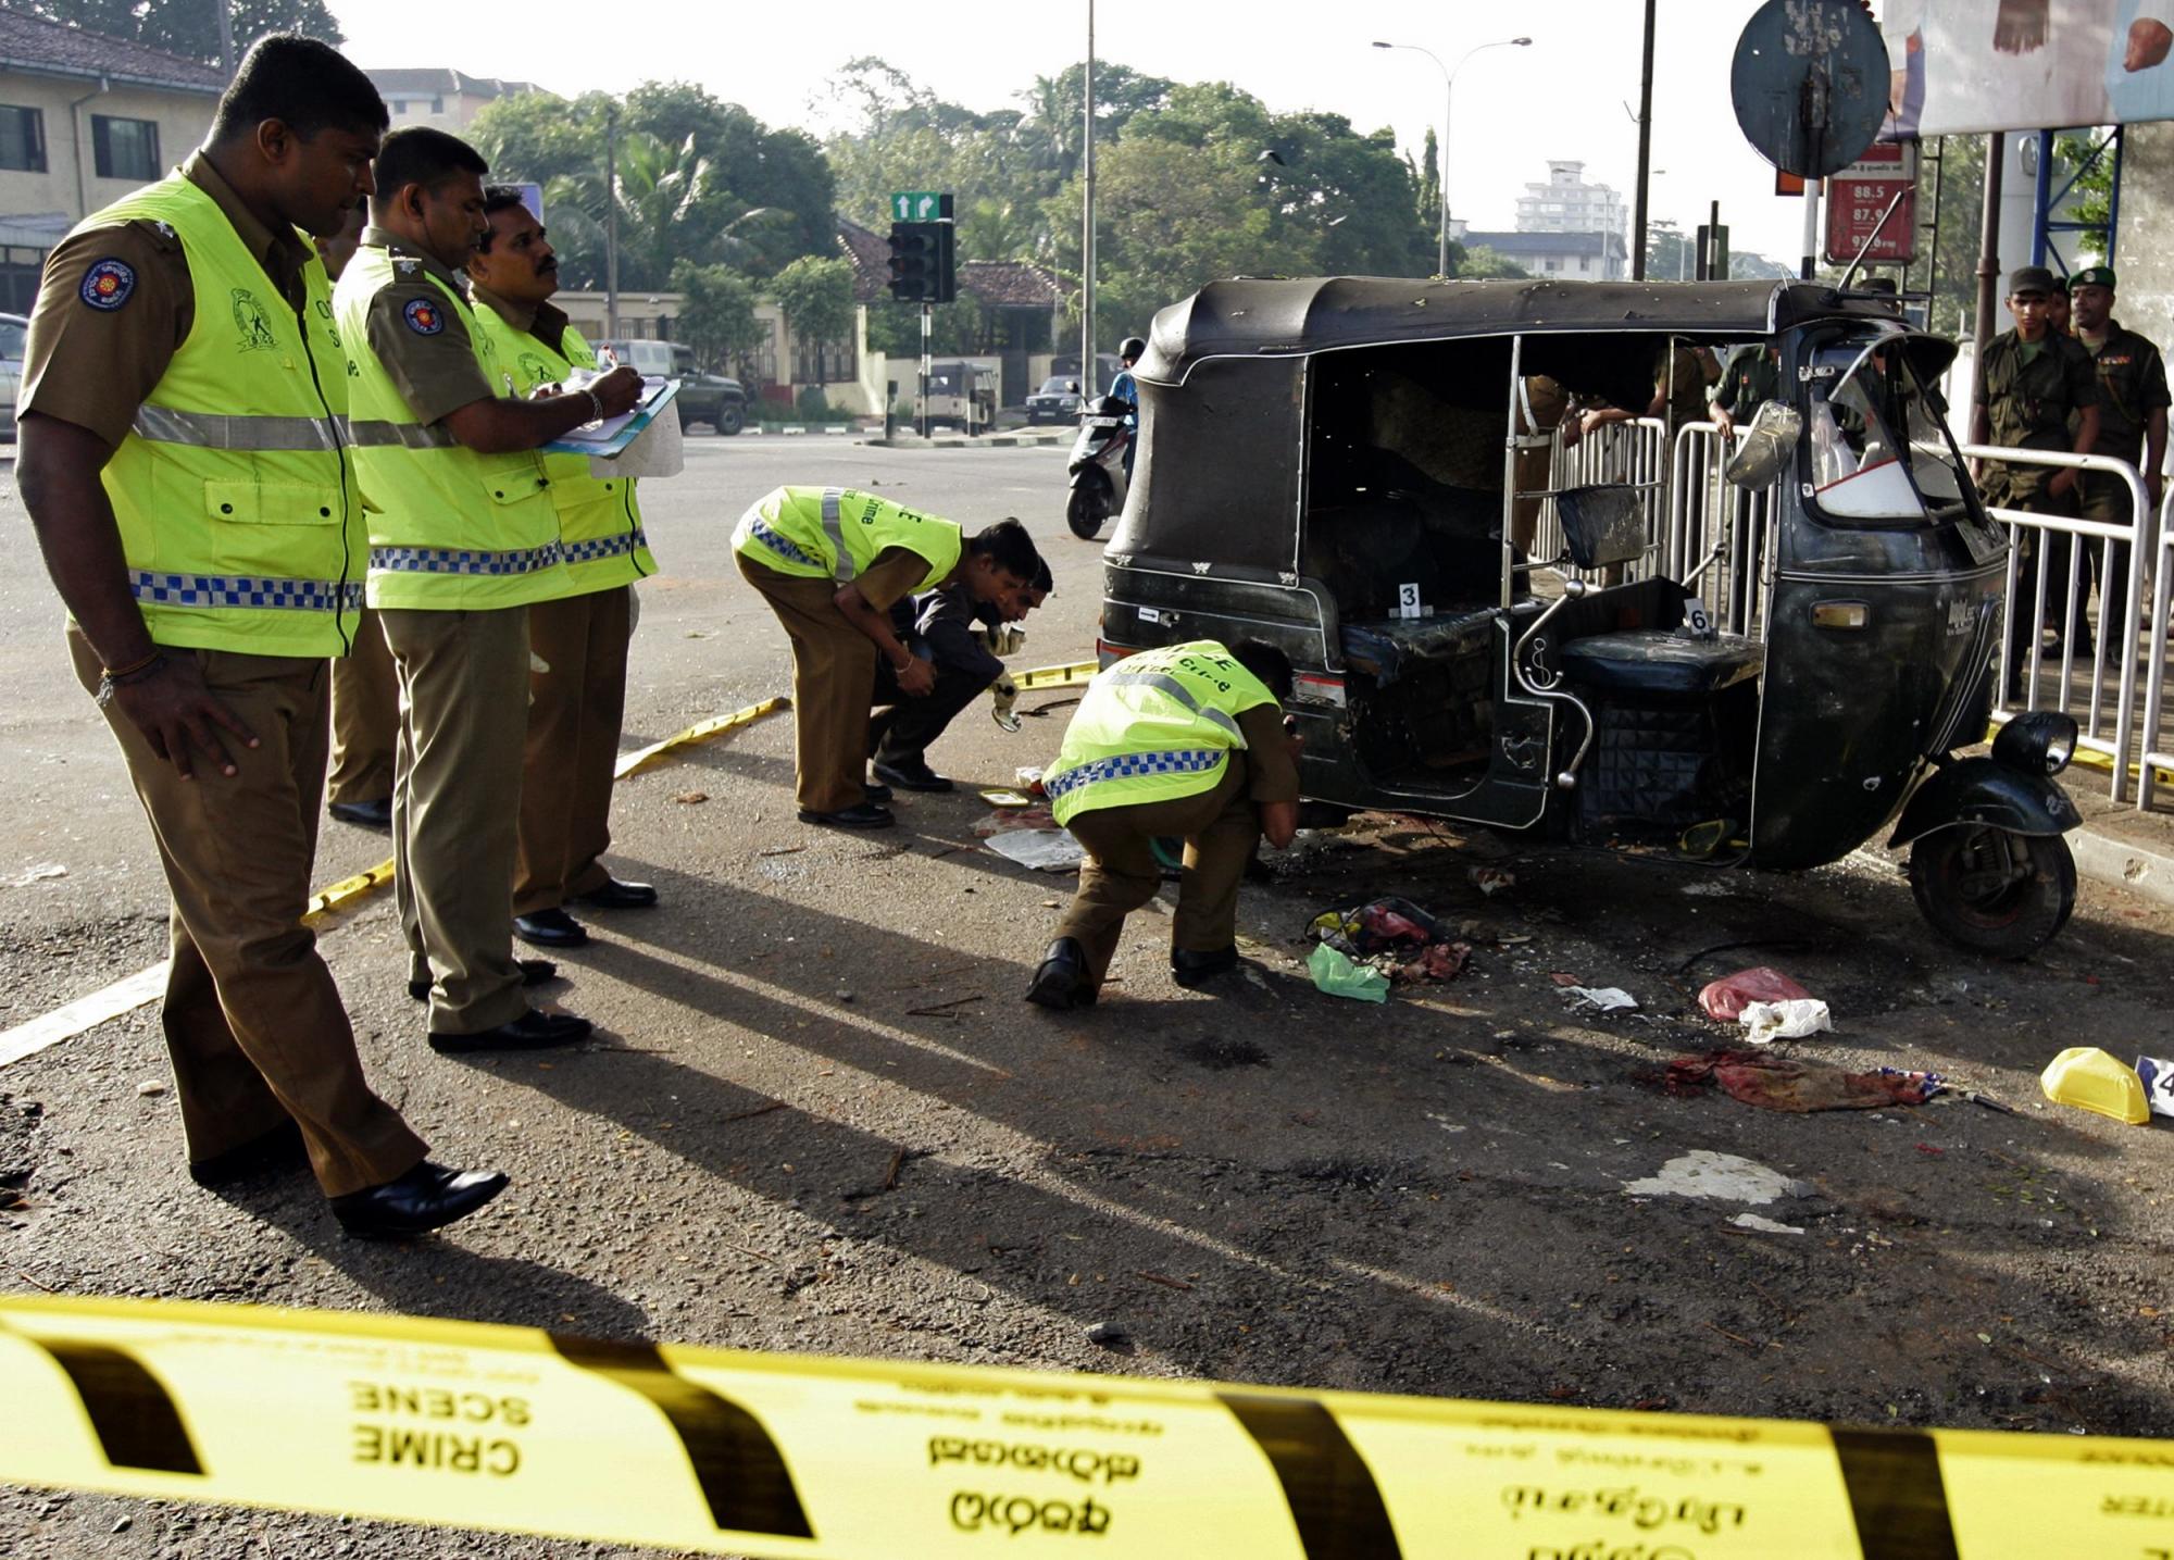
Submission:
[[[165,1041],[189,1171],[309,1165],[354,1234],[498,1195],[424,1158],[363,1080],[302,926],[324,793],[326,658],[365,558],[324,265],[387,124],[333,48],[267,37],[178,174],[46,263],[17,485],[172,893]]]

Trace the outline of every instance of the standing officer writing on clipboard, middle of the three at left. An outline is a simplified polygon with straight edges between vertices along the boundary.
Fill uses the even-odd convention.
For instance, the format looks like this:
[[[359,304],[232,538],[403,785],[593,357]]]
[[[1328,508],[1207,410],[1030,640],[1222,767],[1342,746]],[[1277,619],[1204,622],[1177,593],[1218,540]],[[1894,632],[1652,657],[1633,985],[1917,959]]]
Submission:
[[[563,1045],[513,960],[513,856],[528,732],[528,606],[574,587],[537,450],[630,411],[641,378],[522,400],[476,324],[463,267],[489,230],[483,159],[426,126],[385,137],[363,243],[333,293],[370,498],[370,606],[400,671],[393,860],[409,989],[441,1052]]]

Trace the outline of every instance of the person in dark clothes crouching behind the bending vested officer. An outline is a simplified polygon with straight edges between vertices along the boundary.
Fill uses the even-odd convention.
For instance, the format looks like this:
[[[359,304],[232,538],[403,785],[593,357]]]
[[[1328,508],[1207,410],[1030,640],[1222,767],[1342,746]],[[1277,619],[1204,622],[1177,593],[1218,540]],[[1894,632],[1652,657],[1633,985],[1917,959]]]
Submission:
[[[876,663],[876,704],[889,706],[867,724],[870,767],[876,780],[900,791],[952,789],[946,776],[928,767],[928,743],[944,734],[959,710],[1004,680],[1004,663],[991,645],[1002,643],[1009,624],[1041,606],[1052,584],[1050,565],[1037,561],[1026,589],[1000,602],[976,602],[963,584],[948,584],[891,608],[891,632],[935,667],[937,682],[913,700],[898,691],[891,663]],[[985,630],[987,639],[976,634],[976,628]]]

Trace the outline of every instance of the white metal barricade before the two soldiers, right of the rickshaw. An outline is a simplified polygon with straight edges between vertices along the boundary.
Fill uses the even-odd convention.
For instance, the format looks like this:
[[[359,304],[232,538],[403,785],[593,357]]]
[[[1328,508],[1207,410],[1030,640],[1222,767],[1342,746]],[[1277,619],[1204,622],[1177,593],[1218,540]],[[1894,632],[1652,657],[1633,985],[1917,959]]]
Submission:
[[[1996,661],[1998,674],[1994,680],[1994,719],[2009,721],[2024,710],[2052,708],[2063,715],[2074,715],[2081,734],[2076,745],[2096,754],[2104,754],[2113,760],[2113,789],[2111,797],[2122,802],[2128,797],[2128,763],[2131,754],[2139,747],[2137,743],[2137,637],[2144,632],[2144,576],[2146,576],[2146,554],[2139,541],[2139,515],[2148,515],[2150,500],[2144,491],[2144,478],[2137,474],[2128,461],[2115,461],[2104,454],[2067,454],[2061,450],[2009,450],[2004,445],[1987,443],[1965,443],[1963,454],[1972,461],[1998,461],[2002,465],[2035,465],[2067,471],[2107,471],[2120,476],[2128,487],[2128,524],[2113,524],[2102,519],[2072,519],[2067,515],[2033,515],[2020,508],[1994,508],[1985,506],[1985,513],[2009,528],[2009,576],[2007,576],[2007,602],[2000,615],[2000,656]],[[2017,591],[2024,576],[2024,541],[2033,543],[2033,565],[2031,567],[2031,600],[2017,602]],[[2094,580],[2098,584],[2098,630],[2091,634],[2091,684],[2087,697],[2078,706],[2076,695],[2076,630],[2089,628],[2085,621],[2085,606],[2078,606],[2076,578],[2087,563],[2085,543],[2100,543],[2098,569]],[[2131,543],[2128,567],[2122,569],[2117,580],[2115,563],[2122,548],[2113,543]],[[2065,563],[2065,567],[2048,569],[2048,563]],[[2046,682],[2046,647],[2039,626],[2046,624],[2048,608],[2048,574],[2059,574],[2065,580],[2063,602],[2059,602],[2059,678],[2054,693],[2057,697],[2048,704],[2039,704],[2039,691]],[[2165,574],[2161,571],[2161,580]],[[2161,591],[2165,595],[2165,591]],[[2109,613],[2107,606],[2113,604],[2117,611]],[[2015,656],[2015,619],[2024,613],[2024,621],[2031,624],[2031,632],[2022,634],[2024,641],[2024,663],[2013,665]],[[2109,621],[2109,617],[2113,621]],[[2107,656],[2120,654],[2120,667],[2115,678],[2113,697],[2113,724],[2107,724]],[[2163,658],[2154,663],[2154,676],[2161,671]],[[2009,689],[2015,687],[2017,693],[2011,697]],[[2157,730],[2157,728],[2146,728]]]

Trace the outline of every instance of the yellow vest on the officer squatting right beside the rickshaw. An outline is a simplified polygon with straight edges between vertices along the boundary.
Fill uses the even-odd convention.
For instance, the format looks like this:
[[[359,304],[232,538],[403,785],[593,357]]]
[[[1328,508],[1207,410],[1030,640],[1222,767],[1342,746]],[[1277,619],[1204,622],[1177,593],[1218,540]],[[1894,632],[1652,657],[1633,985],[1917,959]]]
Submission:
[[[1041,776],[1059,826],[1080,813],[1213,791],[1246,747],[1237,717],[1276,695],[1213,639],[1126,656],[1080,697]]]

